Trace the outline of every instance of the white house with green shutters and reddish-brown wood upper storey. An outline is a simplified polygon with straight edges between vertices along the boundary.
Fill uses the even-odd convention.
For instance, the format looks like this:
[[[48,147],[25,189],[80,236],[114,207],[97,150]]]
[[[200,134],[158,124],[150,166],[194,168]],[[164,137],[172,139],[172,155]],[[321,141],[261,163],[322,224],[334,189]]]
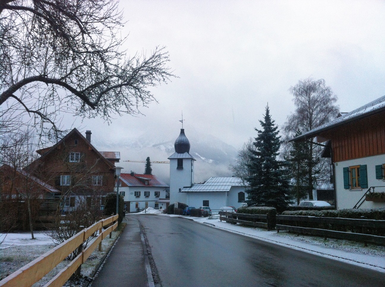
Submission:
[[[337,209],[385,207],[384,123],[382,96],[291,140],[324,146],[323,157],[333,167]]]

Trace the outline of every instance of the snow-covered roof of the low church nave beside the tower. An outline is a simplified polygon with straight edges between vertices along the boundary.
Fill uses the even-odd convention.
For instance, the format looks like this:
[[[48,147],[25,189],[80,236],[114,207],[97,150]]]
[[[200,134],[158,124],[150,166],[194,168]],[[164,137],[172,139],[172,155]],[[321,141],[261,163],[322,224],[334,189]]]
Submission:
[[[228,192],[233,186],[244,186],[240,178],[209,178],[206,182],[183,187],[181,192]]]

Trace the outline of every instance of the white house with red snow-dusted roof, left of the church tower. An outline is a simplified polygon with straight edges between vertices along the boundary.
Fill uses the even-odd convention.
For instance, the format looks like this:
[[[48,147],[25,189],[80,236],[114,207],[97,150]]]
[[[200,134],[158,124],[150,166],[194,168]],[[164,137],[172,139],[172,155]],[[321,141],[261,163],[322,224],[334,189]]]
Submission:
[[[166,198],[169,187],[153,174],[121,173],[119,194],[123,196],[126,212],[152,207],[165,209],[170,200]],[[115,182],[115,192],[116,192]]]

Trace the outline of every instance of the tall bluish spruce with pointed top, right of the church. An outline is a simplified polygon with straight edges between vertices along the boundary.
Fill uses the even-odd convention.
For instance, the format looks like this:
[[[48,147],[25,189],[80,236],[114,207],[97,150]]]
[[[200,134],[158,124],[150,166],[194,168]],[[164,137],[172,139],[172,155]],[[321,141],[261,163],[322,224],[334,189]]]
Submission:
[[[269,107],[266,107],[264,121],[259,121],[262,130],[256,129],[258,137],[253,142],[250,163],[247,165],[250,187],[248,206],[269,206],[281,211],[288,205],[289,181],[283,161],[277,160],[281,146],[278,126],[271,119]]]

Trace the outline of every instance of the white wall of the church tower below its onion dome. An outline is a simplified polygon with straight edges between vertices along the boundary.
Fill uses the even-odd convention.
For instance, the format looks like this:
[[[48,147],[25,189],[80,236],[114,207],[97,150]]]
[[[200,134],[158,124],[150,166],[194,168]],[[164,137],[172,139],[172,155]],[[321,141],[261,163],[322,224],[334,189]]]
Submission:
[[[170,159],[170,204],[176,201],[186,203],[186,193],[179,192],[179,189],[191,186],[192,182],[194,182],[194,161],[184,158],[183,169],[177,169],[177,159]]]

